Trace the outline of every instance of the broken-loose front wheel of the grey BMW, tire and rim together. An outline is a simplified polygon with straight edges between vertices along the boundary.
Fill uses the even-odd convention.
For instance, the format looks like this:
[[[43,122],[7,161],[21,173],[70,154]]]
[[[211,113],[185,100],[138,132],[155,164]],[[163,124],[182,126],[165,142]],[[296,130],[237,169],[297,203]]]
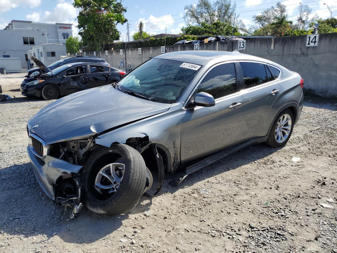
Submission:
[[[82,172],[84,204],[93,212],[117,215],[132,210],[143,195],[146,165],[134,148],[97,148]]]

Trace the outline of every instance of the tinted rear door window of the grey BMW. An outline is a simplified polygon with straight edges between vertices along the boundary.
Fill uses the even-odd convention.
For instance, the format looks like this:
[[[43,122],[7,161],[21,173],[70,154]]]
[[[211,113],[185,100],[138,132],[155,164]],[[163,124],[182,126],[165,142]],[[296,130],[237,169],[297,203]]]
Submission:
[[[265,64],[255,62],[240,62],[245,88],[250,88],[268,82]]]

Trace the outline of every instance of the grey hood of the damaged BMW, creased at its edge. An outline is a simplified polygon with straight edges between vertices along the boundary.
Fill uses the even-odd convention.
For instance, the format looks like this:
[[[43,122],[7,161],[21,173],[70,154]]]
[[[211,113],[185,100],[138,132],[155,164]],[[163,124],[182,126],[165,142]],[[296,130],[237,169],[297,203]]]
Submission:
[[[28,121],[32,133],[47,144],[76,140],[167,111],[171,104],[147,101],[111,85],[65,96]],[[38,125],[32,129],[33,126]]]

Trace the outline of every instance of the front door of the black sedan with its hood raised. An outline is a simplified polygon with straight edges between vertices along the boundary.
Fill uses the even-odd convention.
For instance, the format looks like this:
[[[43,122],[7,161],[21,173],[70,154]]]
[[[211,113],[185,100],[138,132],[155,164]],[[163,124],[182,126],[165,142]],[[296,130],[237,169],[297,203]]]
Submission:
[[[71,94],[89,88],[87,65],[69,68],[62,77],[61,88],[64,94]]]

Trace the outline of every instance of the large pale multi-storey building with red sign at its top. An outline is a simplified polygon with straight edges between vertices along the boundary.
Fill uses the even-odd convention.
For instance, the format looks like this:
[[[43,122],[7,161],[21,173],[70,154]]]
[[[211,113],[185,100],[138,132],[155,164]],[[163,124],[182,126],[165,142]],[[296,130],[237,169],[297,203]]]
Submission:
[[[0,57],[20,57],[22,68],[27,68],[27,51],[34,45],[65,44],[71,36],[72,24],[12,20],[0,30]]]

